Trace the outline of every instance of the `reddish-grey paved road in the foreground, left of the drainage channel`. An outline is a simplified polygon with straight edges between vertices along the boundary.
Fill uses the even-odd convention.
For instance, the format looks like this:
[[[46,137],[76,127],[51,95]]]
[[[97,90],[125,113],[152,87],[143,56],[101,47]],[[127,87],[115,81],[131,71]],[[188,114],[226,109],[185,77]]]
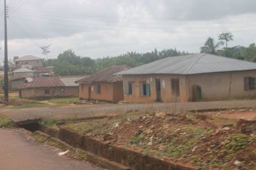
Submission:
[[[100,170],[87,162],[59,157],[58,148],[37,143],[23,129],[0,128],[0,169]]]

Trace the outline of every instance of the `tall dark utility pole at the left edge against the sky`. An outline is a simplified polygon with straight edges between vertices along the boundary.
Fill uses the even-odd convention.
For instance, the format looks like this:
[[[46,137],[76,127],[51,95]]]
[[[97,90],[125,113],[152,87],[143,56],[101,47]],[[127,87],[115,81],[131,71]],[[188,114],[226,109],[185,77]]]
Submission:
[[[7,43],[7,9],[6,0],[4,0],[4,99],[8,102],[8,43]]]

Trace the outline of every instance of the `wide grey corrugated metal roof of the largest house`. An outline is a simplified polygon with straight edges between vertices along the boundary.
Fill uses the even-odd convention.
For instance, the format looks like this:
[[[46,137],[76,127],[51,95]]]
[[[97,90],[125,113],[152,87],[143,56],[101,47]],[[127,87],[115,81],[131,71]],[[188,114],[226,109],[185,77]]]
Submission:
[[[255,62],[196,53],[150,62],[117,74],[201,74],[256,69]]]

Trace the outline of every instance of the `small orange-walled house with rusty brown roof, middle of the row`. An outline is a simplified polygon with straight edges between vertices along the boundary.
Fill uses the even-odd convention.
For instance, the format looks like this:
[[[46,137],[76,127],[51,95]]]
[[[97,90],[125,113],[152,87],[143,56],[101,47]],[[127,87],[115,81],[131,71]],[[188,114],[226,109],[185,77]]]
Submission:
[[[79,80],[79,97],[81,99],[109,101],[118,103],[124,100],[123,81],[121,75],[114,75],[129,69],[128,66],[111,66],[82,80]]]

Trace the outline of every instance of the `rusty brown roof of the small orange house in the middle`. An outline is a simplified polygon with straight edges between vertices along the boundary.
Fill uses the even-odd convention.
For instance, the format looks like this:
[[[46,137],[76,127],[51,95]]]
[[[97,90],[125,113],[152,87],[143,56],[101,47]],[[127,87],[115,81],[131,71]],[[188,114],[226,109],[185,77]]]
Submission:
[[[126,65],[120,65],[120,66],[111,66],[107,69],[104,69],[102,71],[99,71],[95,74],[92,74],[86,78],[83,78],[81,80],[78,80],[78,83],[88,83],[88,82],[99,82],[99,81],[106,81],[109,83],[113,83],[116,81],[122,81],[122,75],[115,75],[115,73],[118,73],[120,71],[124,71],[129,69],[129,66]]]

